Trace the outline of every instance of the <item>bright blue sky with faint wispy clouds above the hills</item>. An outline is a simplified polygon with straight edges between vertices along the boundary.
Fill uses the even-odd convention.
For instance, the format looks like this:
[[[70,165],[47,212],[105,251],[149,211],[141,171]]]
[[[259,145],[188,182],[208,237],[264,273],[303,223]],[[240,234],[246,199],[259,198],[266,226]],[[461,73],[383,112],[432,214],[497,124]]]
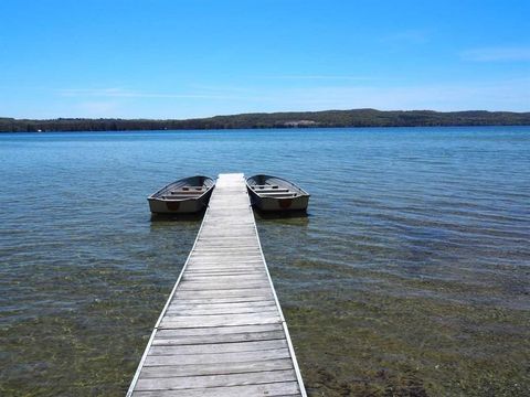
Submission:
[[[530,111],[530,1],[1,0],[0,117]]]

